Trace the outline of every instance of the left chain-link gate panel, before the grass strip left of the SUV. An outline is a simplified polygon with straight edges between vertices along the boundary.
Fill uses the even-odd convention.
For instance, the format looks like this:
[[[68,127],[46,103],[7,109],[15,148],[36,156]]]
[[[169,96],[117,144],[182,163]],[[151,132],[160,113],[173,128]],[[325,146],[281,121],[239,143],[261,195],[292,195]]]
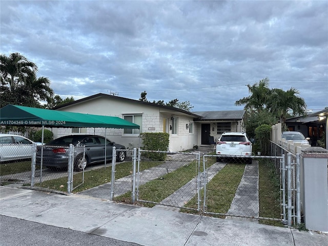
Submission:
[[[166,159],[154,162],[147,158],[151,154],[163,155]],[[199,152],[139,150],[137,160],[137,202],[146,203],[149,207],[200,210],[203,172]]]

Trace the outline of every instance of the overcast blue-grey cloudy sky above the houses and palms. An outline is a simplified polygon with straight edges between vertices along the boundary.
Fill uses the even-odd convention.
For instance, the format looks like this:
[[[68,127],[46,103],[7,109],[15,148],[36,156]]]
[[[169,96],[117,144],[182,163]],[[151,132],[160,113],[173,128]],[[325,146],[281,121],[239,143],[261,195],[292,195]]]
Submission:
[[[63,99],[118,93],[239,110],[246,85],[328,106],[327,1],[4,1],[1,53],[18,52]]]

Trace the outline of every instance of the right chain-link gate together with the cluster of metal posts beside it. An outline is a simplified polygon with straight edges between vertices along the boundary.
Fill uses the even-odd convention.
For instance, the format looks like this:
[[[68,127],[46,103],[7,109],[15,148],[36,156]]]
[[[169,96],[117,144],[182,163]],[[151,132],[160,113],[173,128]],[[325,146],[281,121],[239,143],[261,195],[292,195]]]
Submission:
[[[231,156],[226,161],[213,165],[217,167],[216,174],[212,172],[213,166],[206,167],[206,159],[210,156],[216,155],[203,156],[204,214],[223,218],[239,217],[241,220],[253,221],[277,220],[288,226],[301,223],[299,155],[286,153],[282,156],[250,156],[248,158],[253,158],[252,164],[247,164],[247,157]],[[280,214],[263,216],[265,208],[260,207],[260,203],[265,203],[265,192],[268,191],[260,185],[261,178],[263,179],[261,175],[264,177],[269,175],[279,182],[271,190],[278,196],[275,200],[276,204],[271,204],[271,209],[278,207]]]

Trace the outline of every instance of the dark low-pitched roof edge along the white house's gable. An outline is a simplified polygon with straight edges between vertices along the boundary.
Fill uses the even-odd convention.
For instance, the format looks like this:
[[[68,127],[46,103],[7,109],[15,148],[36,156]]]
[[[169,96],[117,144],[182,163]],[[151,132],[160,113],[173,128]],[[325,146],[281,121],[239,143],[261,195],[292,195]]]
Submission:
[[[167,111],[174,111],[176,114],[187,114],[187,115],[191,115],[193,117],[199,117],[199,115],[197,115],[197,114],[194,114],[192,112],[188,112],[188,111],[185,111],[185,110],[182,110],[182,109],[178,109],[178,108],[175,108],[175,107],[163,106],[163,105],[148,103],[146,101],[139,101],[139,100],[134,100],[134,99],[120,97],[120,96],[108,95],[108,94],[104,94],[104,93],[98,93],[98,94],[95,94],[95,95],[92,95],[92,96],[84,97],[84,98],[72,101],[71,103],[67,103],[67,104],[63,104],[63,105],[54,107],[53,109],[60,109],[60,108],[65,108],[65,107],[68,107],[68,106],[71,106],[71,105],[84,103],[85,101],[92,100],[92,99],[97,98],[97,97],[107,97],[107,98],[111,98],[111,99],[115,99],[115,100],[129,101],[133,104],[143,104],[143,105],[147,105],[147,106],[161,108],[161,109],[167,110]]]

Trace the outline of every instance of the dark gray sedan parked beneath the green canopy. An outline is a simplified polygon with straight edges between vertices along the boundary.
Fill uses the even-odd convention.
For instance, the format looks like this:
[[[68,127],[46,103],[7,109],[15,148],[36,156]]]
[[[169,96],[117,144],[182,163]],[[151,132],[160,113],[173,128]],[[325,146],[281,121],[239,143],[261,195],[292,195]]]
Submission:
[[[126,148],[115,144],[111,140],[97,135],[69,135],[59,137],[48,142],[44,146],[37,147],[36,165],[41,162],[41,148],[43,148],[43,166],[49,168],[67,168],[69,145],[86,148],[85,159],[83,158],[84,148],[74,148],[74,171],[82,171],[86,166],[112,159],[113,146],[116,147],[116,161],[124,161]]]

